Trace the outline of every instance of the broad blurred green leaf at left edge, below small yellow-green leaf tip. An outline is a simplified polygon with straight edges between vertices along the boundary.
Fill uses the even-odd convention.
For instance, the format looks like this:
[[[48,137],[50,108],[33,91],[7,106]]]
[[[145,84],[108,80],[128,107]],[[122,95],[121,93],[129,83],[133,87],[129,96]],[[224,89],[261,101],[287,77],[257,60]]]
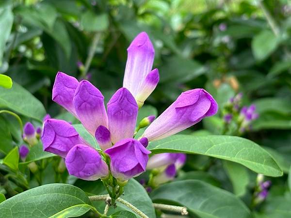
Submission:
[[[12,109],[39,121],[42,121],[46,114],[42,103],[16,82],[11,89],[0,87],[0,107]]]

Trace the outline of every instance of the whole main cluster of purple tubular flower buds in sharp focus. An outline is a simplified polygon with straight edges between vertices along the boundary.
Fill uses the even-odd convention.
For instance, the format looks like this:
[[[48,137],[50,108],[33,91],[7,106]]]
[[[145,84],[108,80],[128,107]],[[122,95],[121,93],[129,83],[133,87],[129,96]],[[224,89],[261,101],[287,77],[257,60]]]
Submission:
[[[72,113],[101,148],[93,148],[68,122],[46,120],[41,136],[44,151],[64,157],[69,174],[84,180],[125,182],[146,171],[149,141],[176,134],[217,112],[217,103],[209,93],[189,90],[156,120],[154,116],[145,118],[137,130],[149,126],[135,139],[138,110],[159,81],[158,69],[152,70],[154,54],[149,37],[140,33],[128,48],[123,87],[113,94],[107,109],[93,84],[58,72],[52,100]]]

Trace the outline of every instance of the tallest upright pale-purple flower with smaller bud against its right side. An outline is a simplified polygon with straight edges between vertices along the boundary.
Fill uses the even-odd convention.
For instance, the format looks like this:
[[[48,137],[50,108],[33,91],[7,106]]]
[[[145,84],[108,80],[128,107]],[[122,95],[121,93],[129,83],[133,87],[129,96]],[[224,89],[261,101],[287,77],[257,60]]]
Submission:
[[[147,78],[153,66],[155,50],[146,32],[139,33],[127,50],[128,59],[123,87],[127,88],[135,98],[139,94],[140,100],[144,102],[159,80],[157,70],[154,70],[153,75]]]

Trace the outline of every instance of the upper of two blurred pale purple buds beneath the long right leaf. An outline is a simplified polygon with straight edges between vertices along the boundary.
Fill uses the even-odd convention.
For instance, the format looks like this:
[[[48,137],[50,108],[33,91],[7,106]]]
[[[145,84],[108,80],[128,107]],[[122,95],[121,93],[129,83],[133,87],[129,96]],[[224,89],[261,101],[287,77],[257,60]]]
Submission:
[[[162,153],[151,156],[148,160],[146,169],[151,170],[159,167],[164,167],[169,164],[174,164],[179,157],[179,153]]]

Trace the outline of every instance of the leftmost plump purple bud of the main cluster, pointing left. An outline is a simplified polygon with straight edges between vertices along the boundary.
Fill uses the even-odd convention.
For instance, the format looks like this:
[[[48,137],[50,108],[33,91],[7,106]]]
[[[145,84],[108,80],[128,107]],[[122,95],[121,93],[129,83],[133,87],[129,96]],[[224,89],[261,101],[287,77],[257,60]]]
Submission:
[[[75,128],[64,120],[48,119],[41,136],[44,151],[65,157],[76,144],[86,143]]]

